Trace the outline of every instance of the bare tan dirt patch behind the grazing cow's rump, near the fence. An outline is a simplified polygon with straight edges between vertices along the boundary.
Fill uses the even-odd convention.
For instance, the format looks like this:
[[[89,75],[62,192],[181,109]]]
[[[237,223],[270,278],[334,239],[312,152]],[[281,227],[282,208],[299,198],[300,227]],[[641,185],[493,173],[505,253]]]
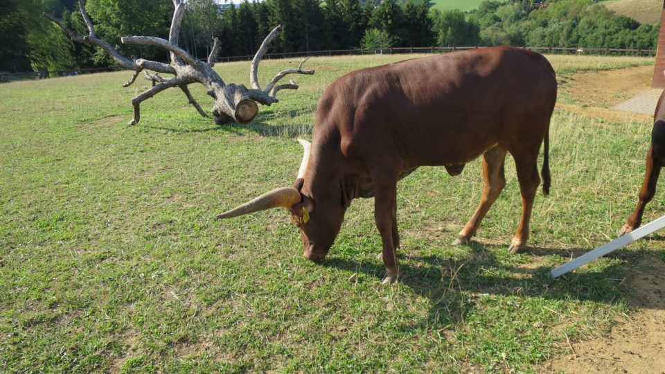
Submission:
[[[610,107],[650,89],[652,74],[653,66],[637,66],[560,77],[560,91],[569,94],[574,103],[558,103],[557,108],[608,121],[650,122],[652,116],[648,114],[623,112]]]

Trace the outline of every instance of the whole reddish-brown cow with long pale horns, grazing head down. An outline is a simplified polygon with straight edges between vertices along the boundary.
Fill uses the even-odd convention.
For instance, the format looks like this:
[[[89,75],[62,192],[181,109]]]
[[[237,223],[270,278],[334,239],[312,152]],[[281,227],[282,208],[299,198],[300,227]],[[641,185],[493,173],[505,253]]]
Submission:
[[[482,155],[483,195],[453,243],[462,244],[504,188],[510,152],[522,193],[522,218],[509,247],[515,252],[529,236],[543,139],[543,190],[549,191],[555,102],[552,66],[520,48],[479,48],[352,71],[323,92],[312,144],[301,141],[305,155],[294,187],[277,188],[218,217],[283,206],[300,229],[305,257],[319,260],[351,201],[374,197],[387,271],[383,283],[391,283],[398,278],[397,181],[418,166],[445,166],[459,175],[465,163]]]

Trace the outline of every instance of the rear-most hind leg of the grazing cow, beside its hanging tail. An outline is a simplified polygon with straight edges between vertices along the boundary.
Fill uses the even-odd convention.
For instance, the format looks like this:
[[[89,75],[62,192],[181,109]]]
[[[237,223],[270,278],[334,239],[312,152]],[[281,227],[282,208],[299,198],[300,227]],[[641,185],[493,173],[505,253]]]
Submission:
[[[529,220],[531,220],[531,211],[533,211],[533,199],[540,186],[540,176],[538,175],[538,150],[536,152],[525,152],[526,154],[513,154],[515,158],[515,168],[517,168],[517,179],[520,181],[520,193],[522,194],[522,217],[517,226],[517,232],[508,247],[511,253],[517,253],[520,249],[526,247],[526,240],[529,239]]]

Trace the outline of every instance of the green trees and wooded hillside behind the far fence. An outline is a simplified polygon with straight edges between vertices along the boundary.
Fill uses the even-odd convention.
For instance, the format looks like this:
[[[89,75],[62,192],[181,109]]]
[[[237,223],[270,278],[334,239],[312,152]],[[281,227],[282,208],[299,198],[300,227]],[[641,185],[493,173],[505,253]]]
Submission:
[[[552,46],[655,49],[659,25],[639,24],[593,0],[488,0],[470,12],[439,11],[426,0],[187,0],[179,44],[205,57],[213,37],[220,56],[253,55],[276,25],[272,52],[390,46]],[[97,33],[126,56],[166,60],[154,47],[120,38],[168,39],[172,0],[87,0]],[[112,64],[105,53],[71,42],[48,12],[87,34],[76,0],[0,1],[0,70],[57,71]]]

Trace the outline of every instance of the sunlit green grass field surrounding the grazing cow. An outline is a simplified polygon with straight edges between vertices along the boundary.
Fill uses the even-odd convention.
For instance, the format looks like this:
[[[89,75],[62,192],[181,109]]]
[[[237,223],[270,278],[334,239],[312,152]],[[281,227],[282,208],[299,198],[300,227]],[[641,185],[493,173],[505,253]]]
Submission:
[[[623,224],[648,121],[556,110],[552,192],[539,191],[532,248],[517,255],[506,253],[521,211],[512,159],[506,190],[463,247],[450,242],[479,200],[479,161],[459,177],[420,168],[400,181],[397,285],[380,285],[372,199],[353,203],[318,265],[302,257],[285,211],[215,220],[292,184],[295,138],[310,138],[332,80],[406,57],[313,57],[299,91],[281,91],[250,125],[222,127],[176,90],[143,103],[127,127],[130,98],[148,82],[123,89],[126,72],[1,84],[0,372],[530,372],[568,353],[568,339],[630,318],[622,279],[637,258],[665,258],[658,236],[556,281],[549,270]],[[549,58],[564,77],[653,64]],[[263,81],[297,63],[262,62]],[[247,84],[248,67],[215,69]],[[657,198],[645,220],[662,212]]]

